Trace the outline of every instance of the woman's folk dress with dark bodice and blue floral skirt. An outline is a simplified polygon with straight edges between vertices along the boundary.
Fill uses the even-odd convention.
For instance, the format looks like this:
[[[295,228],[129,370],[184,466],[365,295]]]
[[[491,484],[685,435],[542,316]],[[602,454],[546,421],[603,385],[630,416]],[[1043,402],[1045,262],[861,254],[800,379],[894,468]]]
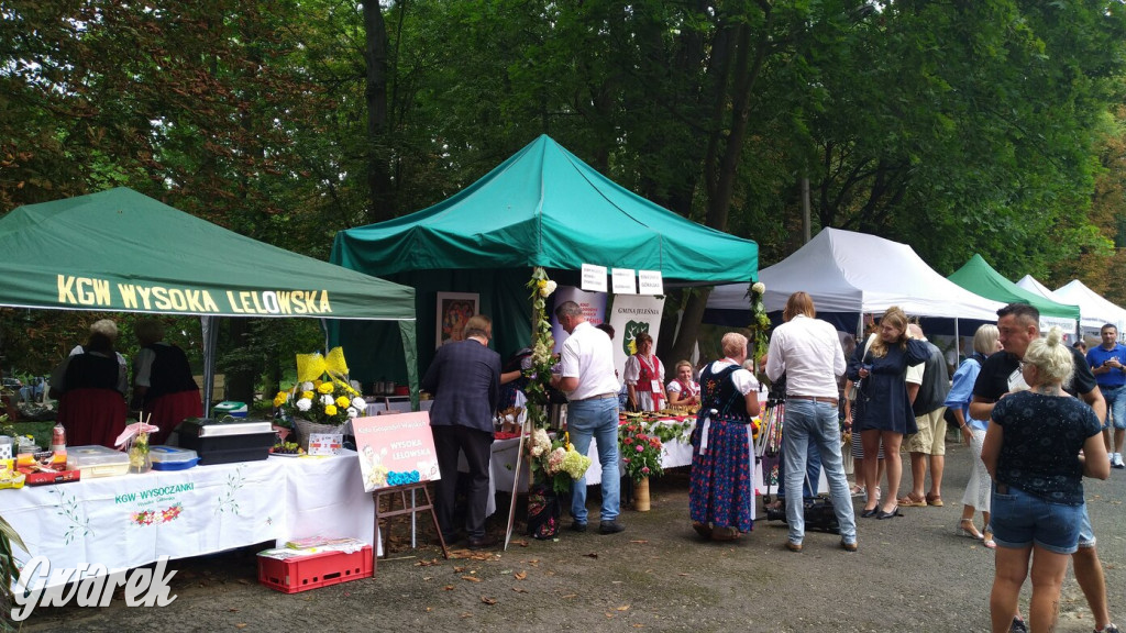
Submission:
[[[731,380],[739,368],[731,365],[713,374],[708,365],[700,375],[700,411],[691,435],[688,502],[694,521],[750,532],[754,526],[751,514],[754,481],[747,434],[751,418],[747,414],[745,398]],[[713,409],[717,411],[714,414]],[[701,451],[708,419],[707,447]]]

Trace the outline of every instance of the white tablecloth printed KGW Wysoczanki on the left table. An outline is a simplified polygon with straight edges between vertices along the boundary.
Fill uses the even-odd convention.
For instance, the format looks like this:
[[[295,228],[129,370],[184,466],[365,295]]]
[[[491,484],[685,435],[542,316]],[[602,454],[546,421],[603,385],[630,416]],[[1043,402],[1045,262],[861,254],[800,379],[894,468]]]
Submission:
[[[17,556],[46,556],[52,570],[100,564],[113,573],[162,555],[318,535],[375,543],[372,494],[356,454],[345,453],[2,490],[0,516],[29,549]]]

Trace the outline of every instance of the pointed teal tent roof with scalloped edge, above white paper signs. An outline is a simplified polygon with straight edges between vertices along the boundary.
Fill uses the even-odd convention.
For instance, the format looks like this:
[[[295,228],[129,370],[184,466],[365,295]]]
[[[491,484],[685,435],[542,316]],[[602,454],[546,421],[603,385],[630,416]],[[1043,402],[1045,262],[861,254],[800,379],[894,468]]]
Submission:
[[[758,244],[646,200],[539,136],[445,202],[337,233],[331,260],[381,276],[592,264],[703,284],[756,279]]]

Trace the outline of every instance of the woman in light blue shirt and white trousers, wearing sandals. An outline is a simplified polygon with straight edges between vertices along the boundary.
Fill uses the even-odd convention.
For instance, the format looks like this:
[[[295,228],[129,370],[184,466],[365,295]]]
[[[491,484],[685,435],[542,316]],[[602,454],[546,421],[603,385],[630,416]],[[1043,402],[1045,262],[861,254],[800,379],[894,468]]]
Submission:
[[[982,541],[989,549],[997,547],[993,536],[989,531],[990,509],[990,478],[985,470],[985,462],[982,462],[982,443],[985,440],[985,429],[989,428],[986,420],[975,420],[969,417],[969,401],[974,395],[974,383],[977,374],[982,371],[982,364],[994,353],[1001,350],[999,340],[1000,332],[997,326],[985,323],[974,332],[974,354],[962,362],[958,371],[954,373],[950,393],[946,396],[946,407],[950,410],[954,419],[962,430],[962,439],[966,446],[973,451],[974,467],[969,472],[969,482],[966,483],[966,492],[962,496],[962,519],[958,520],[958,534]],[[974,526],[974,512],[981,510],[982,524],[985,526],[985,534],[977,532]]]

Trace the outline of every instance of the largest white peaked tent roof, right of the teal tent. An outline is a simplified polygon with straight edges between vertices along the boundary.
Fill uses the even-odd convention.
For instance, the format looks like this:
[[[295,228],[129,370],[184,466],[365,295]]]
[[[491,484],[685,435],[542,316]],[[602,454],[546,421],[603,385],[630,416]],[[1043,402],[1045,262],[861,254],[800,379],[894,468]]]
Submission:
[[[821,312],[881,314],[897,305],[910,315],[995,321],[1001,303],[939,275],[908,244],[876,235],[823,229],[786,259],[759,270],[767,312],[805,291]],[[747,284],[717,286],[708,311],[749,312]]]

